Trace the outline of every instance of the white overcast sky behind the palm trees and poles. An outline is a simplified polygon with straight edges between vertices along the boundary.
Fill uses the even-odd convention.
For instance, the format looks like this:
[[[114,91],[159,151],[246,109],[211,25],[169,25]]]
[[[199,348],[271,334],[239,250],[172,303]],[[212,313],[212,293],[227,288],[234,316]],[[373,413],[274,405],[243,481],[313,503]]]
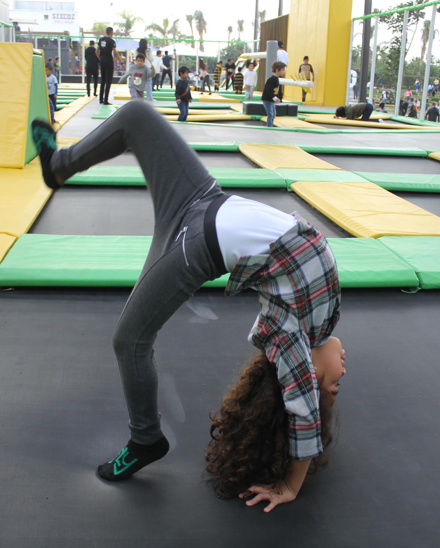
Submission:
[[[134,15],[142,17],[145,22],[137,24],[134,27],[132,36],[142,37],[144,36],[145,25],[155,21],[162,25],[162,19],[167,17],[170,20],[170,24],[174,19],[179,19],[179,28],[182,32],[189,34],[190,29],[187,21],[185,20],[185,14],[192,14],[195,10],[200,9],[205,16],[207,22],[207,32],[205,39],[207,40],[219,40],[228,39],[228,26],[233,27],[232,37],[238,36],[237,32],[237,20],[244,19],[244,33],[242,39],[253,39],[253,27],[252,21],[255,17],[255,0],[221,0],[221,2],[213,2],[212,0],[166,0],[165,2],[146,1],[146,0],[74,0],[75,10],[80,12],[80,25],[85,29],[92,28],[93,22],[106,21],[111,18],[111,15],[116,16],[117,13],[122,10],[129,10]],[[112,7],[110,6],[112,2]],[[386,10],[392,5],[397,5],[399,0],[373,0],[373,9],[378,8],[380,10]],[[10,0],[10,7],[12,7],[12,0]],[[266,10],[266,19],[273,19],[278,15],[278,0],[260,0],[259,10],[262,12]],[[426,18],[431,18],[432,8],[426,8]],[[284,0],[283,2],[283,15],[288,14],[290,11],[290,0]],[[364,0],[353,0],[352,16],[356,17],[364,13]],[[421,27],[421,25],[419,25]],[[436,17],[436,28],[440,30],[440,14]],[[421,43],[420,43],[421,28],[418,29],[414,37],[411,49],[408,52],[407,59],[420,55]],[[197,36],[197,33],[195,33]],[[354,27],[354,44],[362,43],[362,24],[356,22]],[[392,37],[391,33],[386,30],[385,25],[380,25],[378,41],[386,42]],[[410,41],[412,33],[409,33],[408,39]],[[373,45],[373,37],[371,37],[371,45]],[[217,44],[208,45],[205,44],[205,52],[207,54],[215,55],[217,51]],[[432,54],[436,58],[440,58],[440,40],[437,37],[434,41],[432,48]]]

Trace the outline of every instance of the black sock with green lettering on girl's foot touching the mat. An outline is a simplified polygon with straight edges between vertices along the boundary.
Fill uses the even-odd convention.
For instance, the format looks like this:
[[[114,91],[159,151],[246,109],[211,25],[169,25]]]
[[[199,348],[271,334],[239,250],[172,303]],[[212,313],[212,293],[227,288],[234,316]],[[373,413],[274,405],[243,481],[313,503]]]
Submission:
[[[98,466],[98,474],[108,481],[128,479],[147,464],[154,463],[168,453],[170,444],[165,436],[150,445],[130,440],[116,459]]]

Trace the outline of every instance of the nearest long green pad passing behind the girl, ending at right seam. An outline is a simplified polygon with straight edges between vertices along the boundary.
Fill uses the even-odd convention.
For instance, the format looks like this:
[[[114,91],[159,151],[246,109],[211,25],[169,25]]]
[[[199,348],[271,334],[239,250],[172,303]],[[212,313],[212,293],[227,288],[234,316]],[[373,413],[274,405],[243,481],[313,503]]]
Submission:
[[[24,234],[0,264],[0,286],[132,287],[144,265],[151,239],[151,236]],[[342,287],[419,285],[414,270],[374,238],[330,238],[329,243]],[[225,275],[208,284],[224,287],[227,279]]]

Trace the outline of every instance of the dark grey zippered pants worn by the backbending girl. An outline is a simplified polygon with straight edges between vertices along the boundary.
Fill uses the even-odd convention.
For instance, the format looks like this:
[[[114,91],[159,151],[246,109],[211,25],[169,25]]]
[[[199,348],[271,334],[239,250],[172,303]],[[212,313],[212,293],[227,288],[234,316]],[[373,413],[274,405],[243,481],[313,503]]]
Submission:
[[[149,444],[162,436],[153,344],[167,319],[204,282],[221,275],[206,246],[204,217],[208,204],[223,192],[171,124],[143,101],[129,101],[76,145],[54,152],[51,167],[67,179],[127,149],[148,181],[155,229],[116,326],[113,348],[131,438]],[[148,150],[153,152],[146,154]]]

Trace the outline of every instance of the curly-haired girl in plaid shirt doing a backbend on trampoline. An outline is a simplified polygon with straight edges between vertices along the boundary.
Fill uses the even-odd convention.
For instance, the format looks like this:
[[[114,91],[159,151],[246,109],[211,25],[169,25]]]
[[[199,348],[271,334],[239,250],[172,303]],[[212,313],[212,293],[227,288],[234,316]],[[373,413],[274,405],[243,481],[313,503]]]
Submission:
[[[98,467],[99,476],[127,479],[167,454],[157,407],[157,332],[204,282],[230,272],[226,295],[258,293],[249,340],[260,353],[212,418],[206,470],[223,498],[256,494],[246,504],[268,500],[266,511],[294,500],[311,460],[324,464],[331,404],[345,374],[345,352],[330,336],[340,314],[339,279],[323,235],[296,212],[225,195],[145,102],[130,101],[68,149],[57,150],[44,122],[34,121],[32,134],[49,187],[131,149],[154,204],[151,248],[112,340],[131,439]]]

